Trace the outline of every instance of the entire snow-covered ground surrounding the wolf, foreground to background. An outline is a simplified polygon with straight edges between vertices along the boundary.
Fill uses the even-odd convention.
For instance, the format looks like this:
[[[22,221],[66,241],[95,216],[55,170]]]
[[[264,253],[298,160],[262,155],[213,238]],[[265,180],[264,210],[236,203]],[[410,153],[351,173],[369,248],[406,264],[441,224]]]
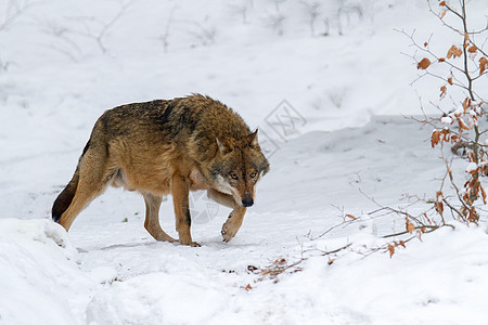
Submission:
[[[0,324],[488,324],[486,216],[370,253],[404,229],[376,203],[419,212],[412,197],[434,198],[445,171],[432,130],[403,117],[439,83],[409,86],[394,28],[433,47],[451,35],[423,0],[313,3],[0,2]],[[484,0],[470,4],[486,24]],[[50,221],[105,109],[191,92],[259,127],[270,156],[235,238],[201,193],[200,248],[155,242],[120,190],[68,234]],[[170,199],[160,219],[176,236]]]

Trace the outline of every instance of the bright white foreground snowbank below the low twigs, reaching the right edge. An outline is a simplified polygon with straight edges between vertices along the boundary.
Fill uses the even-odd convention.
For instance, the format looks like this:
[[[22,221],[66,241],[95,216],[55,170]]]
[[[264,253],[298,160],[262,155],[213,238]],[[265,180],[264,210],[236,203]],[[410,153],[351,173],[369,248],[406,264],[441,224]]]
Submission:
[[[277,284],[252,283],[249,291],[202,268],[141,275],[97,296],[88,317],[100,324],[483,324],[487,234],[457,232],[426,236],[391,260],[347,255],[328,265],[313,258],[304,271]],[[358,246],[375,240],[361,239],[355,238]]]

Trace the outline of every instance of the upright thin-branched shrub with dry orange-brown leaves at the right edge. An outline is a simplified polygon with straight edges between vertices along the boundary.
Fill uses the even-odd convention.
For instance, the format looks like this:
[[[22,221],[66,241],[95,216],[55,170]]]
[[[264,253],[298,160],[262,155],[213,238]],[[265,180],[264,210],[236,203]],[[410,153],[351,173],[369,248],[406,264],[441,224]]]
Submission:
[[[431,12],[446,28],[454,31],[459,39],[446,44],[446,52],[439,53],[432,50],[431,38],[421,43],[415,40],[414,32],[401,31],[416,50],[414,54],[409,55],[414,60],[416,68],[422,72],[414,82],[426,76],[444,82],[438,90],[438,103],[432,103],[442,112],[442,115],[439,118],[425,116],[422,122],[433,128],[432,147],[442,148],[445,144],[451,144],[454,153],[462,150],[460,155],[467,162],[465,169],[467,180],[464,184],[459,184],[451,170],[452,162],[445,158],[446,173],[432,204],[440,216],[444,216],[447,208],[465,222],[477,222],[479,213],[476,205],[479,202],[487,203],[481,178],[488,173],[488,143],[481,140],[481,135],[488,130],[481,129],[479,121],[487,118],[488,90],[486,87],[478,88],[477,84],[488,75],[488,55],[484,50],[488,27],[479,30],[470,28],[465,0],[460,0],[457,6],[438,1],[438,9],[434,9],[432,3],[427,2]],[[445,20],[447,15],[455,18],[458,23],[448,23]],[[435,69],[436,67],[439,69]],[[454,89],[461,92],[457,93]],[[452,92],[452,103],[447,106],[451,108],[445,110],[439,103],[449,92]],[[453,197],[445,195],[446,184],[450,184],[454,190]]]

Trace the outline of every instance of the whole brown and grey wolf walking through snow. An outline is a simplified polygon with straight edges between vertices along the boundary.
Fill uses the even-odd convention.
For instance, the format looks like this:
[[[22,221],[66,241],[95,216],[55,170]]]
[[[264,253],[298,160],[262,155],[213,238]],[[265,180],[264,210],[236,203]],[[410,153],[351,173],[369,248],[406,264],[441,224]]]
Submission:
[[[123,186],[144,197],[147,232],[157,240],[176,242],[158,217],[162,197],[171,194],[180,244],[198,246],[190,233],[189,191],[206,190],[208,197],[233,209],[222,226],[228,242],[268,170],[257,130],[251,132],[236,113],[208,96],[123,105],[95,122],[52,218],[68,231],[108,185]]]

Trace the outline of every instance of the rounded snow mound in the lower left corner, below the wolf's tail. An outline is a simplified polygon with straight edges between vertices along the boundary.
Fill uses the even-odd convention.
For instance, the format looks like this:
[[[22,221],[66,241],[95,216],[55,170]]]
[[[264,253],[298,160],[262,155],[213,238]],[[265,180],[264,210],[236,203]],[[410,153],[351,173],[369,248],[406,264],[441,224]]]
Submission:
[[[0,219],[0,322],[81,324],[92,283],[62,226]]]

